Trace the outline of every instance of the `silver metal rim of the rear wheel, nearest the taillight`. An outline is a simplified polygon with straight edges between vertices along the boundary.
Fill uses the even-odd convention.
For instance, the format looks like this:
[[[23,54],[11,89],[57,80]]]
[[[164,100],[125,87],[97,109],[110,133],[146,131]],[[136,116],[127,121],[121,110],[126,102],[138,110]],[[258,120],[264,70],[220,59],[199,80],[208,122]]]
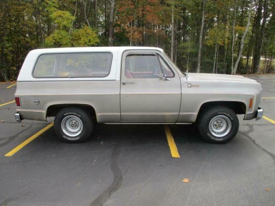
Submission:
[[[67,136],[78,136],[83,131],[82,120],[74,115],[66,116],[61,122],[61,129]]]

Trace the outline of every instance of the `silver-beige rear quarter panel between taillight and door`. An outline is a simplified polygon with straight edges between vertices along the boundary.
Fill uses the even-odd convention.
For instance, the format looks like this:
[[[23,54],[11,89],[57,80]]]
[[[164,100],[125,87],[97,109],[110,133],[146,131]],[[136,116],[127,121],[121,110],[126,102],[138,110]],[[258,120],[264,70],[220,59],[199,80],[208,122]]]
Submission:
[[[24,119],[46,121],[47,108],[55,104],[88,104],[98,122],[120,122],[120,81],[19,81],[15,96]],[[34,100],[39,100],[35,104]]]

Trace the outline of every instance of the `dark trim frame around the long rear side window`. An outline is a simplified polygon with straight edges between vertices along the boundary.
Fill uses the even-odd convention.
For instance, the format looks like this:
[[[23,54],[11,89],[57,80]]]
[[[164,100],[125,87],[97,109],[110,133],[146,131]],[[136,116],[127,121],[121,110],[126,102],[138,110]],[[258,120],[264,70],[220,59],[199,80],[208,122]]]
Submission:
[[[76,76],[74,76],[74,77],[72,77],[72,76],[68,76],[68,77],[62,77],[62,76],[45,76],[45,77],[35,77],[35,76],[33,75],[35,66],[36,66],[37,61],[38,61],[38,59],[39,59],[39,57],[40,57],[41,55],[44,55],[44,54],[49,54],[49,55],[52,54],[52,55],[55,55],[55,67],[56,67],[56,64],[57,64],[57,61],[58,61],[58,56],[56,56],[56,55],[58,55],[58,54],[79,54],[79,53],[110,53],[110,54],[111,54],[111,59],[110,59],[109,72],[108,72],[108,74],[107,74],[106,76],[104,76],[104,77],[108,77],[108,76],[110,75],[111,65],[112,65],[112,58],[113,58],[112,52],[49,52],[49,53],[40,53],[40,54],[36,57],[35,63],[34,63],[33,68],[32,68],[31,76],[32,76],[33,78],[104,78],[104,77],[90,77],[90,76],[77,76],[77,77],[76,77]],[[54,67],[54,71],[55,71],[55,69],[56,69],[55,67]]]

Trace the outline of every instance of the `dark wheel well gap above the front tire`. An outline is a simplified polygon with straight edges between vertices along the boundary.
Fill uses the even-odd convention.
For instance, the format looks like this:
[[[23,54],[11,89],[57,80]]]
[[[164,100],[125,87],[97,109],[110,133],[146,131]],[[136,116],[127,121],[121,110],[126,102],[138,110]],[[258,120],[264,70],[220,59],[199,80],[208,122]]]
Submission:
[[[235,114],[246,114],[246,111],[247,111],[246,104],[242,103],[242,102],[231,102],[231,101],[207,102],[207,103],[203,103],[200,106],[196,121],[199,120],[203,111],[205,111],[206,109],[208,109],[210,107],[214,107],[214,106],[226,106],[226,107],[232,109],[235,112]]]

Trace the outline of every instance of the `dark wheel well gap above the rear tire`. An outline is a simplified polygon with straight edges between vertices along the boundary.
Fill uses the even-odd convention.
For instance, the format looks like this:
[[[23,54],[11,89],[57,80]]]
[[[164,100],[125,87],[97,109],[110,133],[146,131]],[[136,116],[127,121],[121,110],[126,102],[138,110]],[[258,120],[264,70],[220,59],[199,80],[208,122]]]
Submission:
[[[96,120],[96,113],[95,113],[95,109],[94,107],[92,107],[89,104],[54,104],[51,105],[47,108],[47,117],[55,117],[55,115],[64,108],[67,107],[76,107],[76,108],[80,108],[86,112],[88,112],[89,114],[91,114],[91,116],[93,117],[94,121],[97,122]]]

